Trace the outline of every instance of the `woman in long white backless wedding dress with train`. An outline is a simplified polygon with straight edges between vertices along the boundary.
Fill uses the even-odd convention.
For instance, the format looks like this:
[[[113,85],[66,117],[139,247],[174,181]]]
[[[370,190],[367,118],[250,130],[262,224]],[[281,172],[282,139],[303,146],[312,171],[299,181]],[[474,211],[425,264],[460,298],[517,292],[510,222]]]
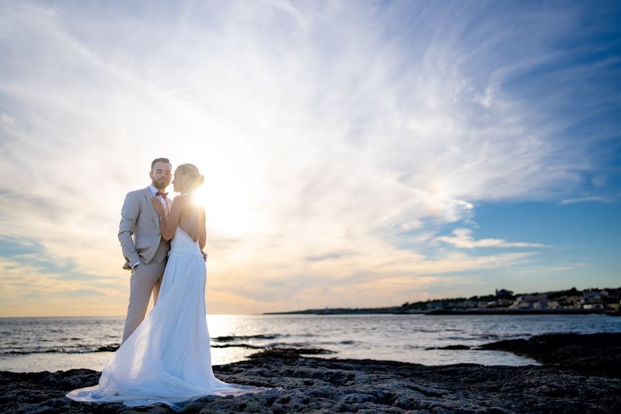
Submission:
[[[204,177],[193,164],[175,170],[168,217],[153,197],[161,235],[172,239],[157,304],[103,366],[98,386],[67,394],[81,402],[124,402],[141,406],[161,402],[176,411],[205,395],[240,395],[273,388],[228,384],[211,368],[205,308],[205,211],[192,193]]]

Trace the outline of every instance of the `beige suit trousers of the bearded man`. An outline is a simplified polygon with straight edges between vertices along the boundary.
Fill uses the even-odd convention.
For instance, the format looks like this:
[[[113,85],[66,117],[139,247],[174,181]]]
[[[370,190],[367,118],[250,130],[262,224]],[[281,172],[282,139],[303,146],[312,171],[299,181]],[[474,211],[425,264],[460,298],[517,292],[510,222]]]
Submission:
[[[123,330],[123,342],[132,335],[138,325],[143,321],[149,306],[149,297],[153,293],[153,306],[157,303],[161,278],[164,276],[166,259],[162,262],[151,260],[148,263],[139,264],[132,270],[130,277],[130,300],[127,306],[127,317]]]

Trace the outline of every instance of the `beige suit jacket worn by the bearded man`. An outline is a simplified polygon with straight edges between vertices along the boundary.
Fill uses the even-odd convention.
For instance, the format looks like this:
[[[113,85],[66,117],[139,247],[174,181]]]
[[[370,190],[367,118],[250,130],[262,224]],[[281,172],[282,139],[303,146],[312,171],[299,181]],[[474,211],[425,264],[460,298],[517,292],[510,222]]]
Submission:
[[[161,242],[159,217],[151,205],[151,197],[153,193],[149,187],[131,191],[125,197],[119,224],[119,242],[125,257],[124,269],[131,269],[138,261],[150,262]],[[168,212],[170,204],[172,200],[166,197]]]

